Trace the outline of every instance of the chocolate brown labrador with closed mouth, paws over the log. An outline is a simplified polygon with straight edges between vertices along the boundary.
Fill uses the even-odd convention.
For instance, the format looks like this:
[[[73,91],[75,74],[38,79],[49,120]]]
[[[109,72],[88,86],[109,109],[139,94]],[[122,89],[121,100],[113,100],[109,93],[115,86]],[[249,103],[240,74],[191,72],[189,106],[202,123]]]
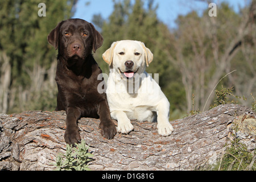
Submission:
[[[97,90],[102,82],[97,77],[102,71],[92,55],[103,43],[101,34],[85,20],[68,19],[51,31],[48,42],[59,51],[56,110],[67,113],[65,142],[74,146],[80,141],[77,121],[81,117],[100,118],[101,135],[112,139],[116,134],[115,125],[110,118],[106,94]]]

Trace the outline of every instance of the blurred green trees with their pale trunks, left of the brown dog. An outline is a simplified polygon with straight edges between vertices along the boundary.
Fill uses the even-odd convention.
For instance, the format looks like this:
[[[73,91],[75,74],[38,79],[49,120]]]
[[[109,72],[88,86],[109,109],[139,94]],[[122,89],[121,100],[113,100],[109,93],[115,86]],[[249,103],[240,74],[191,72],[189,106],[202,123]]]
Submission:
[[[38,4],[46,16],[38,16]],[[0,112],[52,110],[56,103],[56,52],[47,35],[71,18],[77,0],[0,2]],[[55,91],[53,91],[55,90]]]

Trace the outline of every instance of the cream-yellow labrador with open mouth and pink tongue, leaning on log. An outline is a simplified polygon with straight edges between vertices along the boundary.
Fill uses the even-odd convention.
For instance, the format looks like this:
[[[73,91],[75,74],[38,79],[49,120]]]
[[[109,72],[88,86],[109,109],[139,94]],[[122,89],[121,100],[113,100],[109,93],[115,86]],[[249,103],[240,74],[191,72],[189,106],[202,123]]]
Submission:
[[[135,40],[114,42],[102,55],[110,65],[106,94],[117,131],[127,134],[134,129],[130,119],[157,121],[158,133],[174,131],[169,122],[170,103],[156,81],[145,72],[153,54],[144,43]]]

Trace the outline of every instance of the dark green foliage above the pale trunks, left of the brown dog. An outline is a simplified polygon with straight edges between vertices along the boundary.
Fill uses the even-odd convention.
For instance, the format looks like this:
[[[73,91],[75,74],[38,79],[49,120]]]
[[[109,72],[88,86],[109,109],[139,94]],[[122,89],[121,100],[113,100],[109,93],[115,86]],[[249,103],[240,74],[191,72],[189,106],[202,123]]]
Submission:
[[[1,1],[0,49],[11,58],[13,80],[16,84],[30,83],[26,69],[32,70],[35,61],[47,68],[54,61],[55,51],[47,35],[56,24],[72,16],[74,1]],[[46,16],[38,16],[38,4],[46,4]],[[69,5],[68,5],[69,4]]]

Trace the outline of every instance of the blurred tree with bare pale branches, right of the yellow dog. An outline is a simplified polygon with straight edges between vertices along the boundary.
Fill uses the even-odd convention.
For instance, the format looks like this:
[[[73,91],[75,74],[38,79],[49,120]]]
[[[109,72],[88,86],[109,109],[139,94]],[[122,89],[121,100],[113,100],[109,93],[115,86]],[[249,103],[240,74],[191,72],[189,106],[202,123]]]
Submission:
[[[208,10],[205,10],[203,16],[192,11],[185,16],[179,16],[176,20],[178,28],[169,34],[168,46],[163,47],[162,44],[158,44],[166,50],[168,60],[181,73],[187,111],[192,110],[192,102],[196,109],[208,109],[213,103],[214,94],[211,93],[214,91],[214,86],[234,69],[237,70],[234,74],[236,77],[247,75],[249,79],[255,79],[255,61],[253,63],[255,47],[250,44],[247,53],[244,49],[248,36],[254,38],[255,35],[255,32],[251,31],[255,26],[253,17],[255,17],[255,1],[250,7],[241,10],[240,14],[235,13],[226,3],[218,7],[217,17],[210,17]],[[251,43],[253,41],[254,39],[250,40]],[[244,57],[247,57],[247,63]],[[249,65],[248,63],[251,63],[250,74],[246,68],[243,68]],[[233,75],[229,78],[232,79]],[[237,82],[234,78],[230,79],[222,84],[236,85],[236,88],[241,88],[241,85],[244,88],[248,85],[248,92],[238,92],[247,98],[250,98],[250,93],[256,89],[255,84],[251,82],[245,84],[244,81]]]

